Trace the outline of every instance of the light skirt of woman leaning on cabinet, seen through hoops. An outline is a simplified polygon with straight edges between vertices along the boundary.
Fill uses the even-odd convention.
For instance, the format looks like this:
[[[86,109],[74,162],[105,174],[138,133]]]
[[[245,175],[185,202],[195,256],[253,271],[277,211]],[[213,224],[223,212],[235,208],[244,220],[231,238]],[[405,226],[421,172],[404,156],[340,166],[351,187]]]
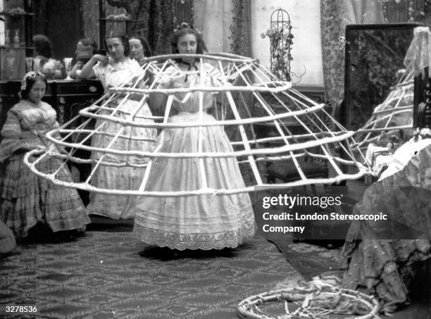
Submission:
[[[135,111],[137,108],[137,101],[126,101],[120,109],[127,113]],[[105,112],[104,114],[108,114]],[[139,111],[139,115],[151,116],[151,111],[148,105],[144,105]],[[119,113],[118,118],[126,118],[125,114]],[[149,120],[142,118],[135,118],[137,122],[149,122]],[[123,128],[123,125],[118,123],[96,120],[95,127],[101,127],[101,132],[117,133]],[[117,151],[152,151],[154,142],[157,138],[155,129],[146,129],[142,127],[125,127],[122,135],[132,136],[135,139],[118,138],[109,146],[111,149]],[[100,148],[108,148],[111,144],[113,137],[107,135],[93,135],[92,146]],[[141,139],[141,140],[139,140]],[[146,139],[143,141],[142,139]],[[153,142],[149,142],[152,140]],[[137,156],[122,156],[115,154],[103,154],[93,152],[92,158],[99,159],[104,155],[103,161],[111,163],[135,163],[144,165],[148,160],[147,158],[139,158]],[[94,165],[93,165],[94,167]],[[136,168],[131,166],[114,167],[110,165],[99,165],[92,177],[91,184],[94,187],[103,189],[126,189],[137,190],[141,185],[142,178],[144,177],[145,168]],[[89,214],[104,215],[108,218],[133,218],[135,217],[131,208],[135,206],[136,196],[123,196],[123,195],[106,195],[101,193],[91,192],[89,194],[89,205],[87,210]]]

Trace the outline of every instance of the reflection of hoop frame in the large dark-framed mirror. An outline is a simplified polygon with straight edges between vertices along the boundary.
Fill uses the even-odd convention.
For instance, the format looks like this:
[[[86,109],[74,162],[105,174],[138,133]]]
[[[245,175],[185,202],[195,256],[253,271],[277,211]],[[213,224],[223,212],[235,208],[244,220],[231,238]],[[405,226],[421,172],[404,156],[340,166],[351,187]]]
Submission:
[[[345,125],[375,176],[413,135],[413,65],[404,63],[415,23],[346,27]],[[365,154],[365,156],[363,155]]]

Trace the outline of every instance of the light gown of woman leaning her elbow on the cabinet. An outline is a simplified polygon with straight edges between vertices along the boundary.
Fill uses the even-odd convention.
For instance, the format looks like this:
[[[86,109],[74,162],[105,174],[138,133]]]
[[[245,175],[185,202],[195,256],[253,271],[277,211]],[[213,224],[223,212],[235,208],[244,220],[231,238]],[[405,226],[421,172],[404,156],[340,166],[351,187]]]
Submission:
[[[140,74],[140,72],[144,72],[139,64],[130,58],[127,58],[123,63],[114,63],[111,61],[106,66],[99,62],[98,64],[94,65],[93,70],[96,77],[101,80],[104,89],[123,85],[125,81],[130,80],[130,77],[134,75],[137,76]],[[111,102],[110,106],[116,108],[122,100],[123,97],[118,97]],[[138,106],[139,101],[130,99],[120,106],[120,111],[133,113],[136,111]],[[101,114],[109,113],[108,111],[101,111]],[[121,112],[116,113],[115,116],[118,118],[127,118],[127,115]],[[149,106],[144,104],[144,106],[142,106],[142,108],[140,108],[138,111],[137,116],[151,116]],[[142,123],[149,121],[143,118],[135,118],[134,120],[135,122]],[[102,123],[105,123],[101,128],[102,132],[116,133],[123,127],[123,125],[118,123],[98,119],[96,120],[95,128],[99,127],[99,125]],[[157,132],[154,129],[130,126],[125,127],[123,135],[129,136],[130,133],[133,137],[142,139],[153,139],[153,141],[156,141],[157,138]],[[92,146],[95,147],[107,148],[111,141],[112,137],[103,135],[92,136]],[[111,149],[125,151],[151,151],[153,146],[154,142],[119,138],[111,146]],[[109,161],[111,163],[124,163],[127,160],[129,163],[144,164],[148,161],[147,158],[139,158],[137,156],[121,156],[115,154],[102,154],[99,152],[93,152],[92,158],[99,159],[102,155],[104,155],[103,161]],[[99,165],[99,168],[96,169],[94,177],[92,177],[91,183],[92,186],[104,189],[137,190],[139,189],[139,185],[142,182],[144,173],[145,168],[135,168],[130,166],[118,168],[108,165]],[[87,211],[89,214],[104,215],[114,219],[134,217],[130,208],[135,205],[135,196],[115,196],[92,192],[90,193],[89,199],[90,202],[87,206]]]

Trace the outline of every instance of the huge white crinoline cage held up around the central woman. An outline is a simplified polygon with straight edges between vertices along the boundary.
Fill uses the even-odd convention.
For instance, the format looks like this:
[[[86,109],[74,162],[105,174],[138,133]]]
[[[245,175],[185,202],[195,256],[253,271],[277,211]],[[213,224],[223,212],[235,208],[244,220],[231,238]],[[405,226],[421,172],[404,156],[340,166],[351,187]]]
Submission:
[[[202,73],[202,68],[198,70],[181,71],[174,62],[175,59],[181,57],[191,57],[198,59],[202,63],[210,63],[213,69],[209,73]],[[176,68],[177,73],[172,75],[172,79],[184,78],[187,75],[199,75],[196,82],[189,87],[174,87],[164,89],[156,87],[156,82],[163,81],[165,77],[164,70],[169,66]],[[290,82],[278,80],[270,71],[263,68],[256,59],[245,58],[233,54],[211,54],[211,55],[179,55],[170,54],[165,56],[155,56],[147,58],[146,63],[142,66],[144,72],[151,70],[154,73],[154,81],[147,83],[146,89],[137,88],[138,82],[143,80],[143,76],[131,77],[131,85],[122,85],[120,87],[111,87],[104,96],[96,101],[92,106],[83,108],[80,115],[68,121],[58,128],[58,130],[49,132],[48,139],[56,146],[61,146],[67,150],[67,154],[56,154],[53,151],[30,151],[25,156],[25,163],[30,169],[45,177],[56,184],[61,184],[66,187],[76,187],[78,189],[87,190],[90,192],[101,192],[106,194],[129,194],[129,195],[144,195],[144,196],[189,196],[194,194],[237,194],[242,192],[253,192],[255,187],[268,187],[268,189],[278,189],[280,187],[295,187],[307,184],[329,184],[340,182],[342,180],[355,180],[367,173],[367,168],[361,163],[355,161],[349,145],[353,142],[351,139],[354,132],[349,132],[339,125],[323,108],[323,104],[317,104],[308,97],[292,89]],[[220,85],[213,87],[211,85],[203,85],[201,79],[209,77],[211,81],[218,81]],[[241,85],[232,85],[237,78],[241,79]],[[197,82],[199,79],[200,83]],[[166,79],[165,79],[166,80]],[[130,82],[130,81],[129,81]],[[125,82],[126,84],[127,82]],[[156,88],[155,88],[156,87]],[[129,99],[130,94],[140,97],[139,107],[142,107],[148,100],[149,93],[163,93],[168,95],[168,101],[165,106],[163,116],[148,116],[145,120],[148,122],[137,122],[137,112],[133,114],[124,114],[121,111],[121,105]],[[215,117],[218,121],[199,121],[199,122],[182,122],[169,123],[168,118],[170,110],[173,108],[173,103],[179,100],[187,101],[191,94],[198,92],[199,112],[203,112],[204,99],[208,96],[207,92],[220,92],[221,99],[213,97],[215,108]],[[123,95],[122,95],[123,94]],[[182,94],[180,96],[180,94]],[[248,95],[247,95],[248,94]],[[255,101],[258,111],[262,114],[252,115],[251,108],[253,105],[247,103],[247,97],[251,95]],[[180,99],[178,99],[180,96]],[[266,101],[271,99],[272,105]],[[111,102],[116,101],[117,106],[112,107]],[[175,101],[175,102],[174,102]],[[219,101],[219,104],[217,104]],[[221,103],[220,103],[221,101]],[[138,108],[139,108],[138,107]],[[123,115],[122,115],[123,114]],[[108,122],[115,122],[121,125],[118,132],[102,132],[101,125],[91,128],[89,123],[94,119],[104,120],[101,125]],[[74,123],[82,121],[83,123],[76,125]],[[325,122],[326,121],[326,122]],[[292,126],[293,123],[293,126]],[[137,137],[130,135],[131,127],[142,127],[146,129],[156,128],[161,129],[161,137],[163,139],[163,129],[170,128],[185,128],[185,127],[201,127],[221,125],[225,131],[235,134],[230,134],[230,144],[233,151],[230,152],[208,152],[200,151],[202,146],[199,145],[198,152],[195,153],[161,153],[158,149],[154,151],[139,151],[138,149],[115,149],[108,146],[106,148],[98,148],[89,145],[89,140],[94,135],[104,135],[112,138],[112,143],[118,139],[136,140]],[[330,130],[330,125],[337,129],[337,132]],[[273,127],[277,136],[265,136],[255,132],[256,127]],[[293,132],[299,130],[299,132]],[[129,132],[129,135],[125,132]],[[53,136],[59,132],[62,136],[61,140],[55,139]],[[151,142],[151,141],[149,141]],[[274,146],[268,146],[268,144]],[[335,152],[339,150],[339,153]],[[80,158],[75,156],[79,151],[99,152],[102,156],[98,159]],[[124,161],[113,162],[106,158],[111,154],[126,158]],[[37,160],[30,163],[30,156],[37,156]],[[65,180],[57,180],[56,173],[47,174],[37,170],[35,165],[44,158],[56,157],[71,163],[92,163],[92,172],[84,182],[68,182]],[[147,159],[148,163],[132,163],[127,158],[142,158]],[[239,165],[247,165],[247,169],[251,170],[251,177],[254,179],[253,184],[238,188],[238,189],[213,189],[205,184],[206,172],[204,165],[199,165],[199,174],[201,180],[204,181],[199,189],[177,189],[172,192],[147,192],[145,191],[146,178],[149,173],[146,172],[139,189],[101,189],[92,186],[91,178],[96,173],[99,165],[110,165],[112,167],[142,167],[146,171],[151,170],[151,165],[156,158],[196,158],[199,163],[204,163],[206,158],[227,158],[235,157]],[[301,168],[301,161],[307,158],[316,163],[327,163],[327,166],[332,167],[335,172],[334,176],[322,178],[307,178],[306,173]],[[265,173],[259,170],[259,163],[289,161],[296,168],[297,179],[292,182],[284,182],[281,184],[269,184],[264,182],[263,176]],[[139,161],[138,161],[139,162]],[[143,161],[142,161],[143,162]],[[349,171],[344,172],[341,167],[350,167]],[[354,170],[351,173],[351,170]],[[211,181],[210,181],[211,182]]]

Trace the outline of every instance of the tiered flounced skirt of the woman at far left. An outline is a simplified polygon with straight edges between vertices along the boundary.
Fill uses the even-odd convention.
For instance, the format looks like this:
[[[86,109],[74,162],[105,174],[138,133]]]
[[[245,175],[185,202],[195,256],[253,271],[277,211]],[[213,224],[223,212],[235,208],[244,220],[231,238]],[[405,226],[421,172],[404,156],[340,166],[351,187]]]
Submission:
[[[0,175],[0,218],[17,237],[26,237],[37,222],[48,225],[53,232],[81,230],[90,223],[84,204],[76,189],[58,186],[32,173],[23,162],[24,153],[14,154],[4,163]],[[30,158],[34,161],[35,158]],[[53,173],[62,162],[49,158],[37,164],[44,173]],[[72,182],[67,168],[58,172],[58,179]]]

